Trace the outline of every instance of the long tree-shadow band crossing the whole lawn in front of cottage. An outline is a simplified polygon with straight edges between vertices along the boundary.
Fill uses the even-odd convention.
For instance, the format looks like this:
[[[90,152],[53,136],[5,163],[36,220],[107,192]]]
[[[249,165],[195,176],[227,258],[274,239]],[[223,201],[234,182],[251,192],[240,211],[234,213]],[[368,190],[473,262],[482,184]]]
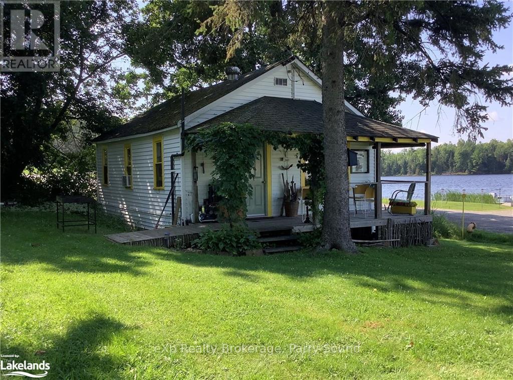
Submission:
[[[512,319],[513,265],[511,249],[505,245],[443,241],[438,248],[363,249],[361,255],[340,252],[279,254],[264,257],[213,256],[165,249],[131,248],[107,241],[101,234],[62,233],[48,226],[51,215],[2,215],[2,261],[22,265],[42,262],[50,270],[68,272],[121,272],[146,275],[154,265],[151,257],[195,267],[219,268],[227,278],[259,282],[269,272],[298,281],[309,277],[337,275],[365,288],[384,292],[408,292],[409,296],[433,303],[469,307],[475,300],[461,292],[500,299],[493,311]],[[32,220],[36,218],[36,220]],[[38,219],[37,219],[38,218]],[[6,223],[8,219],[8,223]],[[25,226],[30,224],[27,229]],[[422,284],[412,284],[419,281]]]

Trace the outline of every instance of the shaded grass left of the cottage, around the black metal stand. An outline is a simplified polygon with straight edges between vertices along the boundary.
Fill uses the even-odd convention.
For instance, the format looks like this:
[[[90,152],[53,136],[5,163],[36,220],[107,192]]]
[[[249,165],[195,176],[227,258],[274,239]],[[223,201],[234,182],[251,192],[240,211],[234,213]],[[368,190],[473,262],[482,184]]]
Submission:
[[[55,215],[34,212],[2,214],[2,262],[13,265],[45,263],[51,271],[141,275],[148,264],[142,249],[112,243],[103,234],[111,231],[86,227],[57,230]]]

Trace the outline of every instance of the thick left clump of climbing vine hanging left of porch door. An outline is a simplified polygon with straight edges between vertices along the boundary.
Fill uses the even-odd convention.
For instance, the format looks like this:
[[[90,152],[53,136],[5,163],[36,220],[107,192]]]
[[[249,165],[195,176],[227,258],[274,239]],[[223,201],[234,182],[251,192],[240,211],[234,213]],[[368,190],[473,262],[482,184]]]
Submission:
[[[246,198],[253,191],[252,169],[263,144],[261,130],[249,124],[233,123],[201,129],[187,141],[190,149],[202,149],[212,160],[212,184],[221,197],[219,214],[230,225],[241,222],[246,216]]]

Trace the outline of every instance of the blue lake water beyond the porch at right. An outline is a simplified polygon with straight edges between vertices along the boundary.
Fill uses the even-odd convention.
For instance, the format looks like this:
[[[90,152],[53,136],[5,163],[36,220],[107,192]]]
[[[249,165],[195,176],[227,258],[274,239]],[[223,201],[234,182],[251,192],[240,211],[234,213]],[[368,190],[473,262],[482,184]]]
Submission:
[[[424,176],[412,177],[381,177],[382,180],[393,181],[425,181]],[[383,198],[388,198],[394,190],[407,190],[409,183],[391,183],[383,184]],[[501,196],[513,195],[513,174],[476,174],[460,176],[431,176],[431,194],[440,192],[441,189],[455,192],[465,192],[481,194],[497,193]],[[413,194],[413,199],[424,199],[424,184],[418,183]]]

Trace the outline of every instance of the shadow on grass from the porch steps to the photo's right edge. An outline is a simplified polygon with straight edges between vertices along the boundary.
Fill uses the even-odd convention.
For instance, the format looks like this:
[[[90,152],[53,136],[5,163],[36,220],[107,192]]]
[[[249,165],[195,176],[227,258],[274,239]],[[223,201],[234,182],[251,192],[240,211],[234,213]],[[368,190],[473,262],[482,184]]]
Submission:
[[[502,306],[476,311],[502,314],[513,322],[513,255],[505,246],[443,241],[438,248],[363,249],[360,255],[305,251],[264,257],[220,257],[165,250],[154,250],[153,254],[159,259],[196,267],[220,268],[225,276],[252,282],[260,281],[260,277],[251,271],[278,273],[299,281],[331,274],[349,278],[370,290],[402,292],[433,304],[461,308],[479,308],[471,294],[497,297]]]

